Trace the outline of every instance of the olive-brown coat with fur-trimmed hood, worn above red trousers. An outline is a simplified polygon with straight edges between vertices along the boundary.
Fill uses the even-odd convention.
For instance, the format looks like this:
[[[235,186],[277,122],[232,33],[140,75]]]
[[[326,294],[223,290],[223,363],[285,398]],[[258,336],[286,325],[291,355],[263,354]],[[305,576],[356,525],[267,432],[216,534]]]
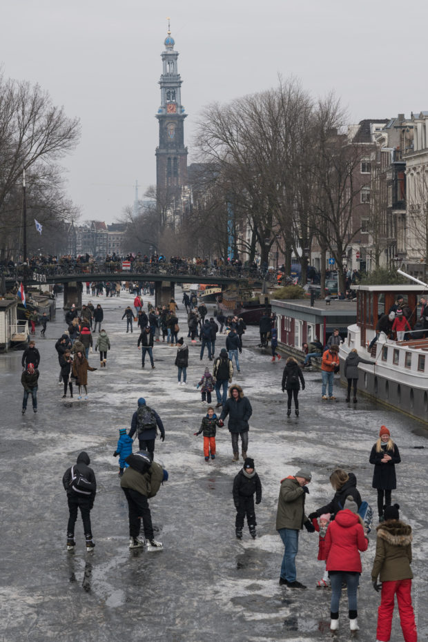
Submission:
[[[389,519],[376,528],[376,554],[371,581],[380,575],[381,582],[411,580],[411,527],[399,519]]]

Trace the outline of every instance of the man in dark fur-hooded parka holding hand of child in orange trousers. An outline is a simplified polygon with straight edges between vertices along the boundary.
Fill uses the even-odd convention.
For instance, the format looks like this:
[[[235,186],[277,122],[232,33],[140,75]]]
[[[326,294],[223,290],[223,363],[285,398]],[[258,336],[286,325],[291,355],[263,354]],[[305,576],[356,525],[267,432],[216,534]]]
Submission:
[[[228,416],[227,427],[232,439],[232,461],[238,461],[240,458],[239,436],[241,436],[242,442],[242,459],[246,459],[246,451],[249,445],[249,418],[252,414],[253,408],[250,400],[244,396],[242,388],[236,384],[231,386],[220,415],[220,426],[224,425],[223,420]]]

